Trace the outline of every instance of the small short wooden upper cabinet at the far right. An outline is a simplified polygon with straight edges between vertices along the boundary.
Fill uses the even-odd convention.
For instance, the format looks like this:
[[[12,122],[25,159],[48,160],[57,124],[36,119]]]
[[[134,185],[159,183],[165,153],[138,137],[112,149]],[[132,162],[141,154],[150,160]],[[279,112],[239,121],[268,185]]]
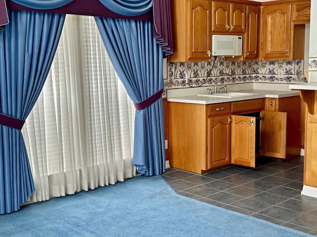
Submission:
[[[301,1],[292,4],[292,22],[309,24],[311,20],[311,1]]]

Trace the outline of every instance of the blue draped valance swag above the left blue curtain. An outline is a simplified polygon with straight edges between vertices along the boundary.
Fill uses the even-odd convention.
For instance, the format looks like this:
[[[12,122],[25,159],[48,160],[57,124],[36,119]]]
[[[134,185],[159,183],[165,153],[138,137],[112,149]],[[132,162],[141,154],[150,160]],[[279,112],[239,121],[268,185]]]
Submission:
[[[72,2],[73,0],[12,0],[13,2],[22,6],[30,7],[33,9],[54,9]]]

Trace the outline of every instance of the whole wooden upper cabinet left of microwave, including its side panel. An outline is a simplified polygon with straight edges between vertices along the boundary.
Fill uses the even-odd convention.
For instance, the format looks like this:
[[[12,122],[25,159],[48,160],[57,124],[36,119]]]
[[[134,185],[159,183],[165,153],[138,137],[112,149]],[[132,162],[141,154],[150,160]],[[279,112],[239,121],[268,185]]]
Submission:
[[[172,62],[208,61],[211,51],[211,1],[171,0]]]

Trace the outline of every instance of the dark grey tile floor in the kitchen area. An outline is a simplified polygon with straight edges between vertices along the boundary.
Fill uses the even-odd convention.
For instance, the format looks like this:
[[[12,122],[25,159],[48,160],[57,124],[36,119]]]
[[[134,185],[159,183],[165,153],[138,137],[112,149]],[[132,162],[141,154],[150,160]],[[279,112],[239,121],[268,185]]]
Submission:
[[[304,157],[257,158],[205,175],[174,168],[163,174],[180,195],[317,236],[317,198],[301,195]]]

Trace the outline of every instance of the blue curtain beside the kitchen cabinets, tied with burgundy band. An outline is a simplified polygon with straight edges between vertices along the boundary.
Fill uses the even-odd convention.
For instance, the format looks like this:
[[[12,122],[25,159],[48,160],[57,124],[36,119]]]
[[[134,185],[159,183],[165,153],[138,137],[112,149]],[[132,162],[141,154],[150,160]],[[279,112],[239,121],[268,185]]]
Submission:
[[[161,174],[165,172],[163,53],[153,39],[152,22],[100,17],[95,20],[114,69],[138,108],[133,163],[140,174]],[[148,98],[154,97],[155,102],[149,102]]]

